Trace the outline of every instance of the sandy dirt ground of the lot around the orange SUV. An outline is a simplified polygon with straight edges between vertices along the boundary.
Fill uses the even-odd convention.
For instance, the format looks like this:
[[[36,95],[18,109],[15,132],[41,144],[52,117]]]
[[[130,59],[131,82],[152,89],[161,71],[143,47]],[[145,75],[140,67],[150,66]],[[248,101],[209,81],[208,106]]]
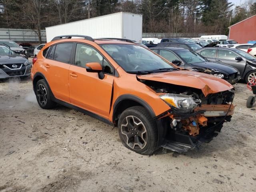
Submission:
[[[116,128],[75,110],[41,109],[30,80],[0,83],[0,191],[256,191],[256,110],[236,87],[236,113],[199,151],[125,148]]]

